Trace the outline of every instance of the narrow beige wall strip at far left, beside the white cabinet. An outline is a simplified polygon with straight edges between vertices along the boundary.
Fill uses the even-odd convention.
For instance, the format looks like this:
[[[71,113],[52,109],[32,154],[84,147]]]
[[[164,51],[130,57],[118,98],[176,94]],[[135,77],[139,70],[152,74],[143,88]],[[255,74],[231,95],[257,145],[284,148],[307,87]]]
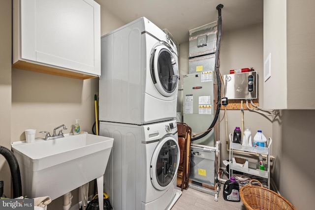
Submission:
[[[11,1],[0,1],[0,146],[11,149]],[[11,197],[11,173],[0,155],[0,180],[4,194]]]

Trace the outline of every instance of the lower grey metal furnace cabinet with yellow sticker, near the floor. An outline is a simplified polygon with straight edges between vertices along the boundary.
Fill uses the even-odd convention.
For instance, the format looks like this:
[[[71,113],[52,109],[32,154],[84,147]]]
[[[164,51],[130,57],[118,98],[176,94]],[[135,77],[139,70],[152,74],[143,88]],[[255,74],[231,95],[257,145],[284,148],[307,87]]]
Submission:
[[[216,151],[199,146],[190,147],[189,180],[215,186],[217,182]]]

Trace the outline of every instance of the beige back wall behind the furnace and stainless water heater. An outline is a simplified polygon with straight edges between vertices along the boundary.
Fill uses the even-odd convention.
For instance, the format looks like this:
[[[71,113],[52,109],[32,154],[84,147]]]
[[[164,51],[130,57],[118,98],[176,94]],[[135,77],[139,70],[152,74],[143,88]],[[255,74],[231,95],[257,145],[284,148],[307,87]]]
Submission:
[[[222,28],[224,22],[222,23]],[[189,73],[188,64],[189,42],[180,45],[180,81],[183,81],[183,75]],[[263,25],[254,25],[245,29],[235,31],[222,31],[221,52],[220,52],[220,71],[221,75],[228,74],[230,69],[253,67],[259,73],[259,84],[262,84],[263,74]],[[180,85],[182,89],[183,86]],[[179,98],[183,105],[182,91],[179,91]],[[259,103],[263,101],[263,87],[259,85]],[[182,110],[181,110],[182,111]],[[220,111],[220,119],[223,118],[224,110]],[[227,111],[227,132],[233,133],[236,126],[241,126],[240,110]],[[211,123],[211,122],[209,122]],[[244,111],[244,124],[252,130],[254,136],[257,130],[262,130],[264,135],[272,137],[271,121],[260,114],[250,111]],[[210,125],[210,124],[209,124]],[[226,132],[225,120],[220,124],[221,140],[221,159],[229,158],[226,150]],[[222,167],[224,167],[222,165]]]

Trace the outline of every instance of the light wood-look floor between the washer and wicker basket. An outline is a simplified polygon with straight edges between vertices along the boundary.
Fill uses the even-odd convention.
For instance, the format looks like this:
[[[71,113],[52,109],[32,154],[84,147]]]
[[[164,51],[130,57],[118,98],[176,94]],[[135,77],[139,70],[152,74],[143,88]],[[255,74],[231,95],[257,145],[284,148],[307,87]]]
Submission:
[[[188,188],[173,206],[172,210],[246,210],[242,201],[231,202],[223,199],[222,188],[215,201],[213,195]]]

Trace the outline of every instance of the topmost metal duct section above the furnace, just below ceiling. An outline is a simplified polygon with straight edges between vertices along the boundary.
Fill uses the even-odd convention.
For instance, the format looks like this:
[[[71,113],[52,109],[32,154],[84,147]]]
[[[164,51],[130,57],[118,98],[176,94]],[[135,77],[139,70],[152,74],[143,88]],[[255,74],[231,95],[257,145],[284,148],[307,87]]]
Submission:
[[[216,51],[217,21],[189,30],[189,58],[212,54]]]

